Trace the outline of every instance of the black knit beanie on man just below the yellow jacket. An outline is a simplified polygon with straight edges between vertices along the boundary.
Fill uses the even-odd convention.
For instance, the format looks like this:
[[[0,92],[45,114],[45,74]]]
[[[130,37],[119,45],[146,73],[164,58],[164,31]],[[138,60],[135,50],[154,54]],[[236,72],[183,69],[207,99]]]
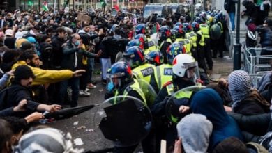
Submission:
[[[29,77],[35,78],[31,68],[27,65],[20,65],[16,67],[14,72],[14,81],[19,83],[22,79],[29,79]]]

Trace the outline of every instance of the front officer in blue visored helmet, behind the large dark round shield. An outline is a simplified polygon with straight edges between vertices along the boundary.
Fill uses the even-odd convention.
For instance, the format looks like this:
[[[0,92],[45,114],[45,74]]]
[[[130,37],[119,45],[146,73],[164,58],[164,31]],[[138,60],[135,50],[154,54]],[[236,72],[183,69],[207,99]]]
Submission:
[[[138,81],[133,79],[133,73],[128,63],[114,63],[107,74],[109,82],[107,83],[105,99],[110,97],[117,97],[119,95],[132,96],[142,100],[142,102],[144,102],[146,105],[144,93],[140,89]],[[117,103],[116,100],[114,100],[114,104]],[[143,146],[143,149],[145,150],[146,146],[144,144]],[[136,147],[137,145],[132,145],[130,147],[115,146],[114,152],[133,152]]]

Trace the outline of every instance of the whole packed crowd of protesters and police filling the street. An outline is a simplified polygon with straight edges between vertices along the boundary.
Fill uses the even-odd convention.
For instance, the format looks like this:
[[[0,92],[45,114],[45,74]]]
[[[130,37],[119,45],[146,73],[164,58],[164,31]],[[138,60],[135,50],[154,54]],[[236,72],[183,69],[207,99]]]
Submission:
[[[90,21],[78,19],[80,14]],[[257,29],[253,24],[249,29]],[[80,96],[90,95],[98,62],[105,99],[135,97],[152,114],[148,136],[133,145],[114,143],[114,152],[133,152],[139,143],[143,152],[160,152],[160,140],[174,153],[272,152],[271,78],[259,90],[243,70],[209,82],[213,58],[223,58],[227,31],[220,10],[165,19],[121,11],[112,16],[110,10],[1,11],[1,152],[84,152],[73,147],[69,133],[37,124],[43,112],[77,107]],[[266,36],[261,43],[269,41]],[[142,90],[142,81],[156,97]],[[190,86],[206,88],[181,91],[174,101],[178,113],[172,112],[178,115],[167,118],[174,111],[167,110],[169,97]]]

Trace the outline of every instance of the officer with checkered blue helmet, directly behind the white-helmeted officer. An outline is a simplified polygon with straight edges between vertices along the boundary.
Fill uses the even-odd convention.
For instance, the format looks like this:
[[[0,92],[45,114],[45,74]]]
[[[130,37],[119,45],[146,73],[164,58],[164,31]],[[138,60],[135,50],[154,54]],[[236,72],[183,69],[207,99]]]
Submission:
[[[174,58],[179,55],[185,53],[185,48],[179,44],[174,42],[167,49],[167,64],[160,65],[157,68],[157,80],[158,80],[158,88],[159,90],[163,88],[163,85],[168,81],[172,81],[172,63]]]

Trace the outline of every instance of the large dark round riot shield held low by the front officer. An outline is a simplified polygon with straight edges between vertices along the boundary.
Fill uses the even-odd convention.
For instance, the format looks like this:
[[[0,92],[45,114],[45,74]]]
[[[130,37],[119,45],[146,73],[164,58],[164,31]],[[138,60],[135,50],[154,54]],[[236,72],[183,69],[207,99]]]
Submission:
[[[112,140],[115,146],[128,147],[141,142],[149,134],[152,117],[141,100],[117,96],[98,107],[94,120],[105,139]]]

